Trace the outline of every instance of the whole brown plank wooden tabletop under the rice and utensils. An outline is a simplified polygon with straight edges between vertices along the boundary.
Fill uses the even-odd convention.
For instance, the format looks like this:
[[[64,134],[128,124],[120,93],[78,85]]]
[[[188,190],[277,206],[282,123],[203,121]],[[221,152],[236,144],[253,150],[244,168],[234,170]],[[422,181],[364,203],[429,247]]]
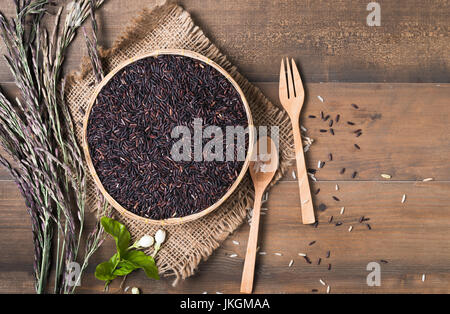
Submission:
[[[331,293],[450,292],[449,3],[380,1],[381,26],[369,27],[369,2],[180,1],[242,74],[276,104],[280,59],[295,58],[308,95],[302,124],[316,140],[306,157],[308,166],[316,168],[318,160],[327,161],[333,153],[333,161],[327,161],[312,183],[313,191],[321,189],[315,204],[328,206],[317,213],[317,228],[300,223],[292,171],[270,191],[260,233],[261,251],[267,255],[257,259],[256,293],[323,293],[320,279],[331,286]],[[2,12],[13,13],[11,1],[0,3]],[[101,44],[110,46],[130,19],[153,3],[107,0],[98,11]],[[4,50],[1,44],[0,53]],[[80,37],[71,47],[66,69],[76,69],[84,55]],[[0,82],[10,95],[16,93],[5,62],[0,63]],[[335,136],[319,132],[326,125],[320,119],[306,118],[321,110],[333,117],[341,114]],[[348,120],[356,126],[347,125]],[[356,138],[352,131],[358,128],[363,135]],[[341,175],[343,167],[347,170]],[[355,179],[353,171],[358,172]],[[382,173],[392,179],[383,179]],[[434,181],[422,182],[429,177]],[[29,217],[3,169],[0,180],[0,292],[33,293]],[[343,225],[329,224],[330,216]],[[371,230],[359,223],[361,216],[370,218]],[[145,293],[236,293],[248,231],[244,224],[201,263],[196,275],[176,287],[173,279],[156,282],[142,272],[129,276],[125,286]],[[309,246],[312,241],[316,243]],[[109,241],[95,254],[79,292],[102,292],[93,271],[112,250]],[[299,252],[307,253],[312,264]],[[229,257],[233,253],[238,257]],[[294,264],[288,267],[291,260]],[[366,284],[370,262],[381,265],[379,287]],[[120,293],[118,286],[114,282],[111,292]]]

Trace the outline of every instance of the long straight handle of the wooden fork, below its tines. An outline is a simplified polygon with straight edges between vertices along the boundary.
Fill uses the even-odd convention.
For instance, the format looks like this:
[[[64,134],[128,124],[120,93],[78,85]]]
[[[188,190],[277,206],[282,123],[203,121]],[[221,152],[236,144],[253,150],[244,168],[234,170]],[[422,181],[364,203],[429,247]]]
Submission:
[[[303,224],[312,224],[316,221],[314,207],[309,188],[308,174],[306,172],[305,155],[303,152],[302,137],[298,119],[292,121],[292,132],[294,133],[295,159],[297,161],[297,180],[300,191],[300,205],[302,208]]]

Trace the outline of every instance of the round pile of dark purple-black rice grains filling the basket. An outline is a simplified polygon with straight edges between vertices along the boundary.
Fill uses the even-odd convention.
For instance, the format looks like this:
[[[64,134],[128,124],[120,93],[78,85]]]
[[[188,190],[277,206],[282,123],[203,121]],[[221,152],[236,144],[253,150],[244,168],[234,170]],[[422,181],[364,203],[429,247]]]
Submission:
[[[219,200],[244,162],[174,161],[176,126],[194,134],[194,119],[221,128],[248,121],[237,90],[201,61],[160,55],[136,61],[100,91],[87,127],[91,159],[106,191],[125,209],[151,219],[183,217]],[[214,137],[214,136],[213,136]],[[203,139],[203,147],[213,137]],[[226,143],[223,152],[226,152]],[[248,149],[248,136],[245,147]]]

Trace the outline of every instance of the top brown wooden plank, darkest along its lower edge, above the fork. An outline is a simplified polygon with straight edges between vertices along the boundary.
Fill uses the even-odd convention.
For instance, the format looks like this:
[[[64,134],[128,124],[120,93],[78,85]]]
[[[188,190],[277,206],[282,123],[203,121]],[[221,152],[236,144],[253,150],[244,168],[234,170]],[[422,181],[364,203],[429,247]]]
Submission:
[[[110,46],[132,17],[158,2],[106,1],[98,12],[101,44]],[[183,5],[252,81],[276,81],[279,59],[291,56],[306,83],[449,82],[448,0],[383,1],[380,27],[366,24],[367,0],[172,2]],[[14,12],[8,0],[0,8]],[[71,52],[69,69],[86,55],[81,36]],[[12,80],[3,62],[0,77]]]

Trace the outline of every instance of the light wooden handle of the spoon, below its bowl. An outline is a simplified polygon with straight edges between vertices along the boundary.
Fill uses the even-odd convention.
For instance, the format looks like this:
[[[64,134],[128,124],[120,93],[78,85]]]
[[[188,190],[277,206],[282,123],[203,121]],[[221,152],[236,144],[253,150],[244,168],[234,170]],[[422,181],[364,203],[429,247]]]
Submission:
[[[261,214],[261,198],[264,191],[255,191],[255,204],[248,236],[247,253],[242,272],[241,293],[252,293],[255,273],[256,245],[258,243],[259,217]]]

